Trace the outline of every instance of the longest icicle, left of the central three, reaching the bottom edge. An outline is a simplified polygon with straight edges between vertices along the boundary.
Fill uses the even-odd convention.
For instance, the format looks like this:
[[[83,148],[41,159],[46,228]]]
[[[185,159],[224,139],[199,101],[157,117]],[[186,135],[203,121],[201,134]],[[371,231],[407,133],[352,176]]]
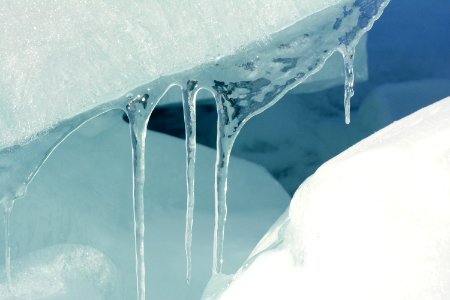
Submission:
[[[130,120],[133,162],[133,208],[136,255],[137,299],[145,300],[144,260],[144,182],[145,182],[145,138],[147,135],[148,95],[138,96],[127,105]]]

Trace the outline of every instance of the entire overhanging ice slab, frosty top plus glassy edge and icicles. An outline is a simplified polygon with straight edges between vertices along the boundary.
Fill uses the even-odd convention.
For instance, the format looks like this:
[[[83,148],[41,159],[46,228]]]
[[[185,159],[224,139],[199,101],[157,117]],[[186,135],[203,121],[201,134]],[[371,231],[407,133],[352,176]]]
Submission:
[[[220,274],[227,220],[228,166],[239,131],[253,116],[319,71],[336,51],[344,57],[348,123],[354,48],[389,1],[261,1],[218,6],[197,3],[186,10],[176,1],[151,5],[102,2],[97,9],[78,1],[51,7],[41,2],[25,2],[9,2],[0,11],[7,36],[5,47],[0,49],[5,57],[0,68],[6,74],[0,81],[0,97],[5,107],[0,120],[3,147],[0,199],[5,207],[6,225],[14,201],[26,193],[27,185],[42,164],[70,133],[105,111],[124,110],[130,120],[133,150],[137,295],[142,300],[145,299],[145,140],[150,115],[161,98],[170,89],[180,89],[184,107],[188,281],[196,160],[195,98],[199,90],[205,89],[216,99],[212,273]],[[223,9],[226,14],[216,12]],[[235,21],[245,20],[249,11],[254,12],[252,20],[256,22],[244,26]],[[164,17],[167,14],[183,18],[168,18],[171,21],[167,22]],[[205,20],[204,15],[215,19],[206,21],[205,26],[200,21]],[[186,20],[189,26],[185,26]],[[165,42],[161,38],[164,30],[165,34],[174,33],[173,39]],[[180,49],[183,55],[179,54]],[[10,278],[9,229],[5,227],[5,266]]]

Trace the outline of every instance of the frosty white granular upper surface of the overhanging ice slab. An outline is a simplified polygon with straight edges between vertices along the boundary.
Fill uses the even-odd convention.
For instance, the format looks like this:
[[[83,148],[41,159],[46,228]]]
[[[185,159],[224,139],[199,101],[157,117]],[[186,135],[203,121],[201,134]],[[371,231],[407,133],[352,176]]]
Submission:
[[[341,2],[7,1],[0,6],[0,146],[162,75],[265,43]]]

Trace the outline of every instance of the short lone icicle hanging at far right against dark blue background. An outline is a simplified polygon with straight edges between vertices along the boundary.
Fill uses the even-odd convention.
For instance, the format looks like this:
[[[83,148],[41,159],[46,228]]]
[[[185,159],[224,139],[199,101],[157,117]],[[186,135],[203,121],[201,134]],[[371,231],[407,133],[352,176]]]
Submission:
[[[353,70],[353,63],[355,59],[355,48],[353,46],[341,46],[339,52],[344,58],[344,72],[345,72],[345,124],[350,124],[350,100],[355,94],[353,85],[355,83],[355,73]]]

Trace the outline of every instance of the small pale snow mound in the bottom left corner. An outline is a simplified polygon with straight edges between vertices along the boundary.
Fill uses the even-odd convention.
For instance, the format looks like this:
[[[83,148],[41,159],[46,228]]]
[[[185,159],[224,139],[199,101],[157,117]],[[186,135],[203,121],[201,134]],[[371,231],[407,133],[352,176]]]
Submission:
[[[52,246],[17,261],[14,267],[12,293],[4,281],[0,283],[3,300],[120,299],[114,291],[119,283],[115,265],[91,247]]]

